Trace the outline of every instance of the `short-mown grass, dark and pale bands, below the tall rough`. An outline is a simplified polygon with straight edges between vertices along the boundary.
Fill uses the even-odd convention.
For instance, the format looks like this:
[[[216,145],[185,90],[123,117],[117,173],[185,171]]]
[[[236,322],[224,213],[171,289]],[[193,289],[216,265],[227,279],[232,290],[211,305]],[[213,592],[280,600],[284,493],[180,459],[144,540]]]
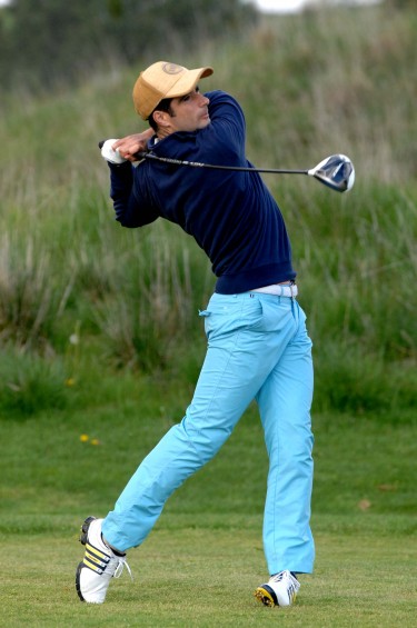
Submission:
[[[81,604],[73,580],[82,519],[112,507],[189,392],[148,380],[129,399],[131,385],[123,392],[119,382],[101,408],[2,421],[1,626],[416,625],[413,417],[315,417],[316,571],[300,577],[294,607],[268,609],[252,598],[267,576],[267,460],[255,406],[130,551],[135,581],[126,572],[103,606]]]

